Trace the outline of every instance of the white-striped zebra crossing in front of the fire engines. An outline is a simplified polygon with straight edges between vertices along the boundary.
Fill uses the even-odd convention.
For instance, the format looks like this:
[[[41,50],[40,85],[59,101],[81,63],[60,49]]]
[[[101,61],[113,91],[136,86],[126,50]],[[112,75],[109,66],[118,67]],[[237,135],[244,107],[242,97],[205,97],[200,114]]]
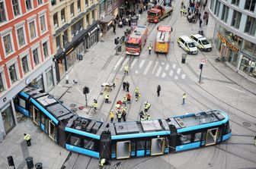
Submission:
[[[130,64],[130,71],[135,74],[142,74],[144,76],[154,76],[156,78],[173,80],[184,80],[186,74],[183,73],[181,67],[178,67],[175,63],[167,63],[167,61],[151,61],[149,59],[134,58],[132,63],[128,63],[130,58],[120,58],[114,65],[114,71],[120,71],[123,73],[123,67],[125,64]],[[123,64],[121,62],[123,61]],[[119,69],[117,69],[119,67]]]

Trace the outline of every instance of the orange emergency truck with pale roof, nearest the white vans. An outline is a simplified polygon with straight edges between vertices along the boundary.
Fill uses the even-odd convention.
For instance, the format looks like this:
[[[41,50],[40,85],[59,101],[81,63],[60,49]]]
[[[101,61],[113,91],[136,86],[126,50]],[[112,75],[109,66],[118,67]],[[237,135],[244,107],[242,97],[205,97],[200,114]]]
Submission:
[[[171,39],[171,27],[159,26],[158,33],[155,39],[155,52],[167,54],[169,51]]]

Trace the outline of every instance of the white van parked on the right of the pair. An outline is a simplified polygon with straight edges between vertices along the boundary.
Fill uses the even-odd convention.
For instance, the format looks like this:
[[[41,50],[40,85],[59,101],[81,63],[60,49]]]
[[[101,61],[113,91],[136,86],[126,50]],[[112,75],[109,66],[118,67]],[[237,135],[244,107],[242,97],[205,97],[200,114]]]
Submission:
[[[190,38],[194,40],[198,49],[205,52],[210,52],[212,50],[212,45],[210,42],[208,42],[208,40],[200,34],[191,35]]]

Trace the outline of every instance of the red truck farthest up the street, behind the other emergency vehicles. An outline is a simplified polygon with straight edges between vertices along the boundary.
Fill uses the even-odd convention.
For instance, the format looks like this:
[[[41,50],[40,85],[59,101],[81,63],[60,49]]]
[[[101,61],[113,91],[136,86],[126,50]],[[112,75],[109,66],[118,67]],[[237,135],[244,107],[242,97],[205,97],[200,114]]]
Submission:
[[[158,23],[160,20],[171,15],[172,11],[172,7],[162,7],[160,5],[155,5],[154,8],[151,8],[148,11],[148,21],[152,23]]]

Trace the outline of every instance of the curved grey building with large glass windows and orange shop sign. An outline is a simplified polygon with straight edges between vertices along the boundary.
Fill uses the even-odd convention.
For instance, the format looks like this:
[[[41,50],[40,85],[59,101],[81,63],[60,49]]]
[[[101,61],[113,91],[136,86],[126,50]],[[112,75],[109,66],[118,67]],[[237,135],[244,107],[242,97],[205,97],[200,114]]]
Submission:
[[[256,81],[256,1],[212,0],[214,44],[239,73]]]

